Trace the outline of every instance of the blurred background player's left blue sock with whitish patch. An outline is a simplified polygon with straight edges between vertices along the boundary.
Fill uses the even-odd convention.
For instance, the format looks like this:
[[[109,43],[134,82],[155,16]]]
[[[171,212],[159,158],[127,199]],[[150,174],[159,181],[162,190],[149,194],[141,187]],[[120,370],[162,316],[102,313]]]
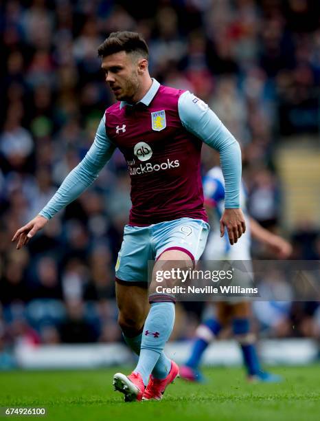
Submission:
[[[203,352],[205,352],[209,343],[213,341],[220,330],[221,326],[215,319],[207,319],[205,323],[198,326],[196,330],[196,341],[194,341],[191,355],[185,365],[197,369]]]

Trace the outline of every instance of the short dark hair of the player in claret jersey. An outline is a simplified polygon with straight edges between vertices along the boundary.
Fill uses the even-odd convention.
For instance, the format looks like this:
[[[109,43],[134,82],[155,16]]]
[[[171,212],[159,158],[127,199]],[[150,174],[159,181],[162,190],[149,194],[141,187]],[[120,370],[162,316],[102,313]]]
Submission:
[[[98,56],[106,57],[120,51],[137,52],[148,58],[149,50],[146,41],[137,32],[112,32],[98,47]]]

